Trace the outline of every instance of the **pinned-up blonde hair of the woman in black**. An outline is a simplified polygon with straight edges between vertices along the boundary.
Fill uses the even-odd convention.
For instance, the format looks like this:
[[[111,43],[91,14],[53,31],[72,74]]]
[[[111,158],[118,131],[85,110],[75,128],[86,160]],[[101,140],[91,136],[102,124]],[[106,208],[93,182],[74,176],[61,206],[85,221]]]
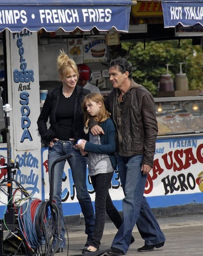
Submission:
[[[76,72],[78,79],[79,73],[76,62],[69,58],[69,56],[63,50],[60,50],[57,58],[58,75],[61,77],[67,77],[71,73],[72,69]]]

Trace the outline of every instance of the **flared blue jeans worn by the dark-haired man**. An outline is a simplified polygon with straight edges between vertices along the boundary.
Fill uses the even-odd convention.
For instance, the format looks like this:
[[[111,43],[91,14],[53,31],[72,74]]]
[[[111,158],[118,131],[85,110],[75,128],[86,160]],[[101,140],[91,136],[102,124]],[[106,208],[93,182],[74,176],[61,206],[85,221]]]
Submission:
[[[141,172],[143,155],[122,157],[117,155],[118,171],[123,186],[124,221],[116,233],[111,247],[122,250],[125,254],[130,245],[134,225],[145,240],[146,245],[156,245],[165,241],[165,236],[157,223],[152,209],[143,196],[147,175]]]

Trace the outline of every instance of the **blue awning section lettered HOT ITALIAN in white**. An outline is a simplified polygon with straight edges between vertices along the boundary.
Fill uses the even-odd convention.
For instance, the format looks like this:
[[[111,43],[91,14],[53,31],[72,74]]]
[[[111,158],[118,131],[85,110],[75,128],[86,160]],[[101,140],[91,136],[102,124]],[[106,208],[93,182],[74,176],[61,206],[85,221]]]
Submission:
[[[203,0],[162,0],[164,27],[203,26]]]

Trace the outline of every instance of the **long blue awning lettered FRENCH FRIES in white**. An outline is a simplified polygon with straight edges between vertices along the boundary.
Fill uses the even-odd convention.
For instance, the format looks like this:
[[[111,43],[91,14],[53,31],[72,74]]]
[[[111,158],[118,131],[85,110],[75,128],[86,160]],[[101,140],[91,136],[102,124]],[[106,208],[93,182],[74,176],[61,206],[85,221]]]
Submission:
[[[11,32],[24,28],[90,31],[94,27],[127,32],[131,4],[131,0],[0,0],[0,32],[5,28]]]

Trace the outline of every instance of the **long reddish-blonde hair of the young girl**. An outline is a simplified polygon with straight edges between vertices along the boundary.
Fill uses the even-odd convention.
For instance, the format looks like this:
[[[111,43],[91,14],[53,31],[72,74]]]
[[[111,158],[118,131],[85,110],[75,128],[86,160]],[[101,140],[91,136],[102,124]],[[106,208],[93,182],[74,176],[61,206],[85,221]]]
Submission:
[[[97,103],[101,102],[102,103],[99,115],[97,117],[91,117],[88,114],[87,107],[86,107],[86,104],[88,102],[97,102]],[[86,95],[83,102],[82,102],[82,108],[83,108],[83,111],[84,111],[84,125],[85,125],[86,128],[88,128],[88,123],[89,123],[90,117],[93,118],[98,123],[102,123],[110,117],[109,112],[105,108],[103,96],[100,93],[90,93],[90,94]]]

